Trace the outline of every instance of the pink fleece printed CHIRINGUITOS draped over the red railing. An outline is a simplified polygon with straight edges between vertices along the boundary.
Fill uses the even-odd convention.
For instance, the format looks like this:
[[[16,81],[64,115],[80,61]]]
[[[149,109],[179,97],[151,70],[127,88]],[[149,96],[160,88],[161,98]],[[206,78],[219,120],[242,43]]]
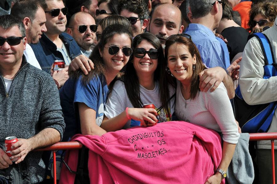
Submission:
[[[187,123],[163,122],[100,136],[78,134],[89,148],[90,183],[205,183],[221,161],[221,138],[213,130]],[[65,157],[77,170],[78,150]],[[60,184],[73,184],[75,174],[62,166]]]

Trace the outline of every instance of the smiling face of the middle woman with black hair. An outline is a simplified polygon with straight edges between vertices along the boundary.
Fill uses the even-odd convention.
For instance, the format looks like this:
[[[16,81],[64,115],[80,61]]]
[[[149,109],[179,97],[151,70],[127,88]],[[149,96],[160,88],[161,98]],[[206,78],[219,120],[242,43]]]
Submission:
[[[142,40],[136,48],[142,48],[146,51],[157,49],[150,42]],[[145,54],[143,58],[137,58],[134,56],[133,65],[138,76],[140,74],[153,74],[158,66],[158,59],[151,59],[148,54]]]

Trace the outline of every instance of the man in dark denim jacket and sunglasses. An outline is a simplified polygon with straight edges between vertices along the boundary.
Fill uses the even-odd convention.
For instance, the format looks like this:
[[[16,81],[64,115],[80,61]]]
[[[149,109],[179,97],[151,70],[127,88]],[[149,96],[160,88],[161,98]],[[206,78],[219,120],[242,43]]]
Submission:
[[[69,65],[71,60],[81,54],[75,40],[64,33],[66,29],[66,14],[62,0],[46,0],[47,32],[42,34],[38,44],[31,44],[35,56],[42,70],[50,73],[50,68],[55,60],[63,60]]]

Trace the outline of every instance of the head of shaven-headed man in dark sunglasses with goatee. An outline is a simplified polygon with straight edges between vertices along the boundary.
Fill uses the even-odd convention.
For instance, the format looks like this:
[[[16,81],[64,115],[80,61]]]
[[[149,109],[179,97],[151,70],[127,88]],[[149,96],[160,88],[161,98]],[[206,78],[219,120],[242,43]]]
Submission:
[[[88,13],[78,12],[70,18],[67,33],[77,42],[82,54],[89,58],[96,30],[94,18]]]

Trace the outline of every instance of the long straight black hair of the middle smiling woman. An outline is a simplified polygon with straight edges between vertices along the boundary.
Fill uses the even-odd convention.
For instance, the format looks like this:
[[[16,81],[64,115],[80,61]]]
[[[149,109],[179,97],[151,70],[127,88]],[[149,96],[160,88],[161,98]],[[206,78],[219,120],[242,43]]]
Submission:
[[[153,45],[156,49],[158,49],[159,57],[158,57],[158,66],[157,69],[154,72],[154,80],[159,82],[159,93],[160,93],[160,99],[162,102],[162,107],[166,110],[166,113],[169,114],[169,89],[168,86],[172,85],[175,87],[173,78],[166,73],[166,62],[163,55],[163,48],[160,40],[151,33],[142,33],[137,35],[132,44],[132,49],[135,50],[135,48],[142,42],[143,40],[146,40],[151,45]],[[132,56],[131,59],[133,59]],[[130,59],[130,60],[131,60]],[[136,74],[134,65],[132,62],[128,62],[126,65],[126,72],[124,75],[124,85],[127,91],[128,98],[130,99],[130,102],[135,108],[141,108],[143,106],[143,103],[140,99],[140,91],[139,91],[139,79]],[[159,107],[157,107],[159,108]]]

